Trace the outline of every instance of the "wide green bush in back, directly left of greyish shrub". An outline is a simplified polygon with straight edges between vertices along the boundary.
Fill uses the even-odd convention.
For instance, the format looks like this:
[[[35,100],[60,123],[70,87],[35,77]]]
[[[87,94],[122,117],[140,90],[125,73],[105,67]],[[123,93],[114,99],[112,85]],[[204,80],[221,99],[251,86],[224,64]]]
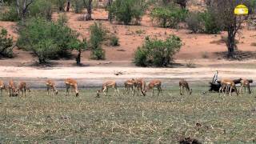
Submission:
[[[187,11],[174,6],[155,7],[151,11],[150,17],[153,22],[157,22],[159,26],[176,28],[179,22],[185,21]]]

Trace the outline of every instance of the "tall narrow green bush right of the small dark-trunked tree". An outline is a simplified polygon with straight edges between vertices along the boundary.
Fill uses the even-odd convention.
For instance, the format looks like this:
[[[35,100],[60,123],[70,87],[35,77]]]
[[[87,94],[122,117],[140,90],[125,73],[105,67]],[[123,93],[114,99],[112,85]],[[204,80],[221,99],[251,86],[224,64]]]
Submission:
[[[105,52],[101,47],[105,37],[106,30],[103,29],[102,24],[94,22],[94,25],[90,26],[90,48],[92,50],[90,58],[97,60],[105,58]]]

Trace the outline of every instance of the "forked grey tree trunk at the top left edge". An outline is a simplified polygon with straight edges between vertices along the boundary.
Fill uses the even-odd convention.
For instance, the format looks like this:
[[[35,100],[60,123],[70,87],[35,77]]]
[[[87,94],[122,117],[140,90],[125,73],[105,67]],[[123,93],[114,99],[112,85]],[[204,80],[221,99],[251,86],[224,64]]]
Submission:
[[[19,17],[22,19],[22,22],[24,22],[28,8],[33,2],[34,0],[16,0],[16,10]]]

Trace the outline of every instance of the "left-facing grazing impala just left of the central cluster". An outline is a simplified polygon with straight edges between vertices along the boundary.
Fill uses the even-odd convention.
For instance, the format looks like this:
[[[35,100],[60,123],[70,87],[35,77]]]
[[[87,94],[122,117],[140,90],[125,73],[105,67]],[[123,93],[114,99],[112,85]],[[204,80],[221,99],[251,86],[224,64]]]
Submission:
[[[119,94],[119,90],[118,90],[118,86],[117,86],[117,82],[115,81],[107,81],[107,82],[104,82],[102,84],[102,90],[98,90],[97,91],[97,97],[99,97],[99,93],[104,93],[104,95],[106,96],[107,95],[107,92],[109,90],[109,88],[114,88],[114,96],[116,95],[116,92],[118,91],[118,94]],[[120,95],[120,94],[119,94]]]

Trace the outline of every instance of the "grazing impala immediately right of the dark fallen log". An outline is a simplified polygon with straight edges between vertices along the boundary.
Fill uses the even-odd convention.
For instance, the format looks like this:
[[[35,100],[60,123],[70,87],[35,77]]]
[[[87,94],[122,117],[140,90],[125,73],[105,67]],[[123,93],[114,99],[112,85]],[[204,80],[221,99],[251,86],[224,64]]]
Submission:
[[[233,80],[231,79],[227,79],[227,78],[224,78],[222,79],[221,81],[221,87],[219,88],[218,90],[218,93],[220,94],[221,91],[222,91],[222,94],[226,94],[226,92],[224,93],[224,90],[230,90],[230,96],[231,96],[231,92],[232,92],[232,89],[234,89],[234,91],[236,92],[236,94],[238,95],[238,90],[237,90],[237,87],[235,86],[235,83]]]

